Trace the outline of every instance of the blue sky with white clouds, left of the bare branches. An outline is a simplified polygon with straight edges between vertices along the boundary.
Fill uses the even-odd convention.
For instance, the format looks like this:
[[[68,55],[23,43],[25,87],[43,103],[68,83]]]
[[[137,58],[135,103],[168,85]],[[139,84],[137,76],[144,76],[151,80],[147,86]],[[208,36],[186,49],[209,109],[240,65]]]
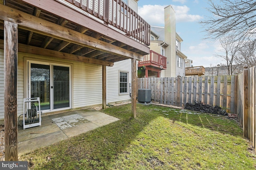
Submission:
[[[193,66],[212,67],[224,63],[214,55],[220,53],[218,41],[204,40],[204,28],[198,23],[211,14],[208,0],[139,0],[138,14],[152,26],[164,26],[164,8],[172,5],[176,12],[176,32],[183,39],[181,51],[193,60]]]

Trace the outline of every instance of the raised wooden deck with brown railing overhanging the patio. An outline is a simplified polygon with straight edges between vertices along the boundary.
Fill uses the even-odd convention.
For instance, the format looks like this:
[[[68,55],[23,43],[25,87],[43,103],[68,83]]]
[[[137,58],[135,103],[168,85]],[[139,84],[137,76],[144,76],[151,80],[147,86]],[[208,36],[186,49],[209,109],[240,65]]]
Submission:
[[[5,0],[0,12],[0,48],[9,21],[21,52],[106,66],[149,53],[150,25],[121,0]]]

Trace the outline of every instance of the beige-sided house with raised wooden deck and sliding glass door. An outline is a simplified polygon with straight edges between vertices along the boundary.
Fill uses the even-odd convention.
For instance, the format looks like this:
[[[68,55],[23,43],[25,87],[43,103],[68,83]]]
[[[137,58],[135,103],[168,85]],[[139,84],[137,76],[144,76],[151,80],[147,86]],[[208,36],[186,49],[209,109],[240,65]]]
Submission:
[[[130,100],[150,51],[137,1],[0,1],[0,119],[21,115],[23,98],[40,97],[44,114]]]

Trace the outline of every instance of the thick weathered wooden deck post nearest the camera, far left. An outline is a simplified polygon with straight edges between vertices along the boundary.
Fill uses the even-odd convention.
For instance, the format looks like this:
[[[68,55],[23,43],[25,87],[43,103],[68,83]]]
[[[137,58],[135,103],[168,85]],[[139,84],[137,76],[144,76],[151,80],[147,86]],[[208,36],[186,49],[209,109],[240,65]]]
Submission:
[[[6,161],[18,161],[17,74],[18,24],[4,21],[4,137]]]

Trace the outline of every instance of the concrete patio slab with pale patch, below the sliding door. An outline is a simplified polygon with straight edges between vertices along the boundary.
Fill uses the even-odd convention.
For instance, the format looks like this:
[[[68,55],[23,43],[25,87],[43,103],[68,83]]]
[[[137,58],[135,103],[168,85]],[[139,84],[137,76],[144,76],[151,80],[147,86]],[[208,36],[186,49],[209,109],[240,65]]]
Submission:
[[[94,109],[43,116],[42,126],[25,130],[18,127],[18,155],[32,152],[37,148],[52,145],[118,120],[116,117]]]

